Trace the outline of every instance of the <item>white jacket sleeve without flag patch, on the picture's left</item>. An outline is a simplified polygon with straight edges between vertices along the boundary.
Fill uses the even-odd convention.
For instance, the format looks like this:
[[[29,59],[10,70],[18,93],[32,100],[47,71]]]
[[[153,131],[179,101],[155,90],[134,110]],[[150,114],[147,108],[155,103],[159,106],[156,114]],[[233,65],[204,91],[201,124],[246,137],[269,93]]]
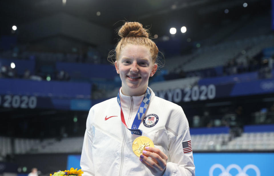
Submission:
[[[94,176],[94,167],[92,160],[92,141],[93,132],[91,127],[91,118],[93,116],[93,111],[90,109],[88,113],[88,118],[86,120],[86,132],[84,136],[84,143],[82,148],[80,166],[84,172],[82,176]]]

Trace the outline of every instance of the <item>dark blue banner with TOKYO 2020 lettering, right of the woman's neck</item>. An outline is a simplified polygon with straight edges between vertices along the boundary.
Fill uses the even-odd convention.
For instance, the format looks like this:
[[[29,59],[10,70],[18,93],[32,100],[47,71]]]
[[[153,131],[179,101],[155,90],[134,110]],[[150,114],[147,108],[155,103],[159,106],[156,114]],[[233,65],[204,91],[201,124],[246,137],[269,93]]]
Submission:
[[[204,101],[217,98],[274,93],[274,79],[249,82],[195,85],[186,89],[154,91],[155,95],[174,103]]]

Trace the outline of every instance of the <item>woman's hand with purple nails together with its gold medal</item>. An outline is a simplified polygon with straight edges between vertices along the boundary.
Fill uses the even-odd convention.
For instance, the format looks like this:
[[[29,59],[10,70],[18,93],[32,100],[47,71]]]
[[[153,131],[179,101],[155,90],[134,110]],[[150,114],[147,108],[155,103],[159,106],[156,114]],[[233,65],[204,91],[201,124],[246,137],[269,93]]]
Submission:
[[[133,141],[132,150],[135,155],[140,157],[140,161],[153,175],[164,174],[168,157],[161,150],[154,148],[154,144],[150,138],[146,136],[136,138]]]

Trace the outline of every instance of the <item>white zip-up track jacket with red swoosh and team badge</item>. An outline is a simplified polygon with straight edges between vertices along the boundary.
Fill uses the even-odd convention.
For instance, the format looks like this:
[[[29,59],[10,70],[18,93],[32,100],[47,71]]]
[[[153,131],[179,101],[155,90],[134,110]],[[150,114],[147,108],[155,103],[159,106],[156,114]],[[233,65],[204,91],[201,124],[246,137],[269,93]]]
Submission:
[[[155,148],[168,156],[164,175],[194,176],[189,125],[184,111],[149,90],[151,101],[138,129],[142,130],[142,136],[153,141]],[[132,126],[143,97],[125,96],[120,90],[128,128]],[[152,120],[148,122],[150,116]],[[137,137],[139,135],[132,134],[122,123],[116,97],[94,105],[86,121],[80,161],[82,176],[152,175],[132,151],[132,143]]]

